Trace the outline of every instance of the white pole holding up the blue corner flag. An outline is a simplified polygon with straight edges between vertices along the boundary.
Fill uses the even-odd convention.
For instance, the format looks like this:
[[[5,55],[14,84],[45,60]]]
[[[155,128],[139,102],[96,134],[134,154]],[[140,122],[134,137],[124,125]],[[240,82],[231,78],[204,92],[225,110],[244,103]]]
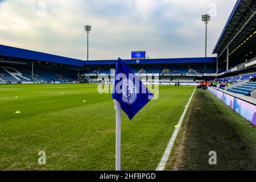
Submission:
[[[115,171],[121,171],[121,106],[115,101]]]

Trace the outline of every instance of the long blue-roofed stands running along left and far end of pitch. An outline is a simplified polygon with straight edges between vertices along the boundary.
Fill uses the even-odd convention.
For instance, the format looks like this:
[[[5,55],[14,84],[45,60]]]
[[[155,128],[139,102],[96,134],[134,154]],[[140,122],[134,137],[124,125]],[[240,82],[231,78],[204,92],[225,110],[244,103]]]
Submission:
[[[216,57],[124,60],[138,76],[152,73],[160,82],[184,82],[216,76]],[[0,83],[97,82],[98,75],[112,75],[115,60],[84,61],[0,45]]]

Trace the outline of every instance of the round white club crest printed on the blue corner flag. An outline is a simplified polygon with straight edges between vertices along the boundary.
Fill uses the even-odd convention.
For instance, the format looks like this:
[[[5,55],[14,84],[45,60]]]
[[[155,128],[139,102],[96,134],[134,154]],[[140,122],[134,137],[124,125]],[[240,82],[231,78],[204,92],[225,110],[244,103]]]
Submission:
[[[123,80],[122,84],[122,100],[131,105],[137,98],[137,88],[130,79]]]

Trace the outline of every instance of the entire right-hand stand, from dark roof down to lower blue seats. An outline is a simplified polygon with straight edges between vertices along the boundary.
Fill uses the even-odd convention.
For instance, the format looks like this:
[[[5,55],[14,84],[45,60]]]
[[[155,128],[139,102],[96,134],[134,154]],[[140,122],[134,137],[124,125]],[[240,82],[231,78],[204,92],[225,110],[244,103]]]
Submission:
[[[217,80],[229,82],[226,91],[243,97],[256,89],[255,80],[251,81],[256,76],[255,21],[255,1],[238,0],[213,50],[217,54]]]

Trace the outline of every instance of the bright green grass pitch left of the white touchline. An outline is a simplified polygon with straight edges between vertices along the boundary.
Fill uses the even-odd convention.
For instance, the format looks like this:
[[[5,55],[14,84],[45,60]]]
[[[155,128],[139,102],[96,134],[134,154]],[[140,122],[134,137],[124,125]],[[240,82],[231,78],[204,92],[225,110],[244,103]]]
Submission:
[[[194,88],[160,86],[132,122],[122,112],[122,170],[155,170]],[[97,85],[0,85],[0,170],[114,169],[110,94]]]

